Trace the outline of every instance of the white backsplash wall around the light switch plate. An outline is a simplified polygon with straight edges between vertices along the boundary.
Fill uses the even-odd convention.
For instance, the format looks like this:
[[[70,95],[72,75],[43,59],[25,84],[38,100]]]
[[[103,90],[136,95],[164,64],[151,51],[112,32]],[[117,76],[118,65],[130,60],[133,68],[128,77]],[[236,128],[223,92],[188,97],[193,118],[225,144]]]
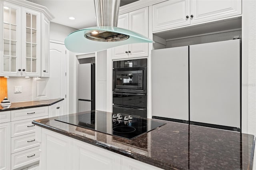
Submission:
[[[14,86],[22,86],[22,93],[14,93]],[[33,78],[9,77],[7,79],[8,99],[11,103],[33,100]]]

